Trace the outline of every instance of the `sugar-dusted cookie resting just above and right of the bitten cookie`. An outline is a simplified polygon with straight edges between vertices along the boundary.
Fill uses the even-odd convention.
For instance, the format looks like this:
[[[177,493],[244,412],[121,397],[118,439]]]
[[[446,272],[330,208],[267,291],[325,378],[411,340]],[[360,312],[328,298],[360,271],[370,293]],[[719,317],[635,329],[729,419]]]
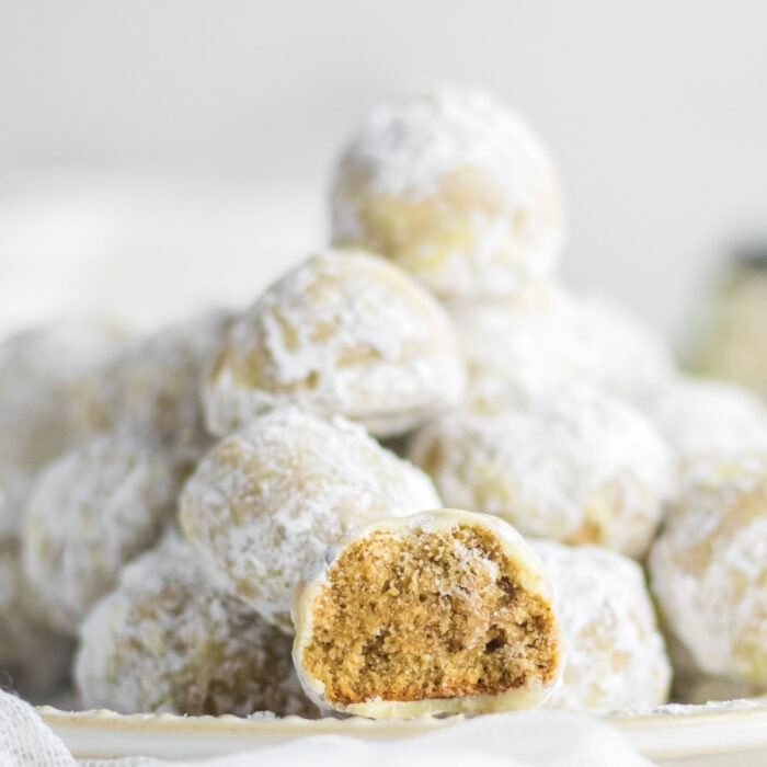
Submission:
[[[652,540],[672,474],[640,413],[583,387],[492,415],[447,415],[415,435],[411,457],[446,504],[631,557]]]

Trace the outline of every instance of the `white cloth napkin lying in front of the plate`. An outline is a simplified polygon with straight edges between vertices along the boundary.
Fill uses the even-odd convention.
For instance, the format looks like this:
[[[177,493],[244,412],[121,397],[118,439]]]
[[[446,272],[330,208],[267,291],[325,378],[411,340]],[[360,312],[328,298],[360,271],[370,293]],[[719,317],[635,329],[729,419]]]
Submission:
[[[136,744],[137,749],[140,743]],[[183,767],[135,757],[85,767]],[[257,752],[185,763],[194,767],[649,767],[614,728],[594,718],[524,711],[470,719],[423,735],[373,743],[317,735]],[[35,710],[0,691],[0,767],[77,767]]]

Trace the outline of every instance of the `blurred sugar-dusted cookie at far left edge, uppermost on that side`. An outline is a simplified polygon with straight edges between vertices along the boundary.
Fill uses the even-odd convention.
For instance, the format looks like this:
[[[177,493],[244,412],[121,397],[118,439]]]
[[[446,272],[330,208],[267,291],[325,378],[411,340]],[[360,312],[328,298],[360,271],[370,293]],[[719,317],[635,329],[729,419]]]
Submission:
[[[112,331],[75,320],[0,343],[0,486],[7,492],[88,434],[96,381],[117,345]]]

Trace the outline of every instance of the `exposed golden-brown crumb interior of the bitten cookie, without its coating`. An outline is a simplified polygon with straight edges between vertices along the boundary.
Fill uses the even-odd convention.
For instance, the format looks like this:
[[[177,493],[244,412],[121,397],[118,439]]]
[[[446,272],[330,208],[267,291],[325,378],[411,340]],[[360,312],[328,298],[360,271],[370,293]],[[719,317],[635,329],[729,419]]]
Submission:
[[[556,682],[551,608],[483,529],[375,531],[343,551],[311,609],[304,671],[333,706]]]

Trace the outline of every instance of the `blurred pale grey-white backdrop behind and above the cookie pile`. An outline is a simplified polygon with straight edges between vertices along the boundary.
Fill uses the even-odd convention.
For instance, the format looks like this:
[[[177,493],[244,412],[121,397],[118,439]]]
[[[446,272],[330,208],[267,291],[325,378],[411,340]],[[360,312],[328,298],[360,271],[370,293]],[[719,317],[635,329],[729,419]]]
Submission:
[[[435,82],[527,116],[566,275],[677,340],[767,230],[764,1],[0,0],[0,323],[244,300],[322,243],[364,111]]]

